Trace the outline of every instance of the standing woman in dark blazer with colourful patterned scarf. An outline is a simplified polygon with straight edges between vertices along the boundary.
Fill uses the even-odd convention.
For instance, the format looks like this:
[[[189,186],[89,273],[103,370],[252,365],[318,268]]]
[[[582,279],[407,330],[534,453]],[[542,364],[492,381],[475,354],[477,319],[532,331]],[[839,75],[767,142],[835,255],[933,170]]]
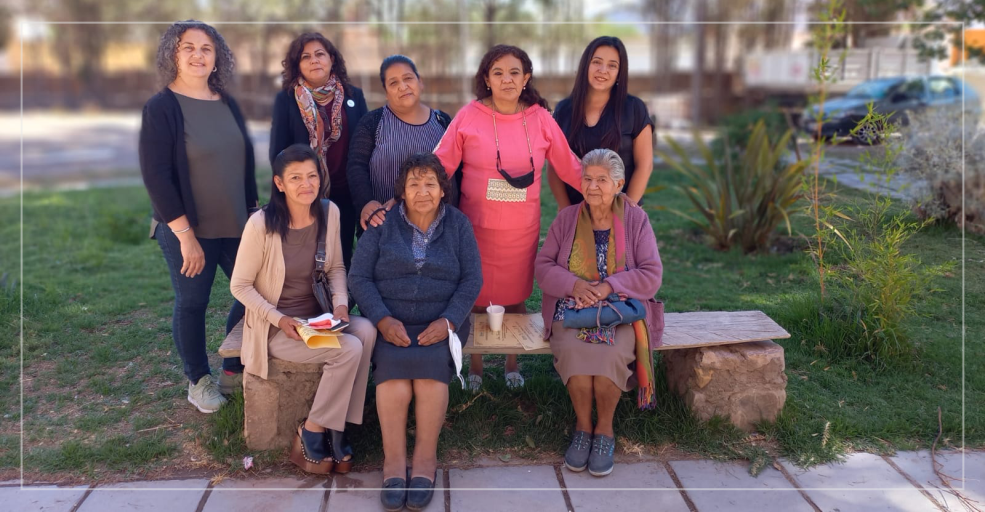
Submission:
[[[274,99],[270,162],[291,144],[308,144],[321,159],[322,195],[339,207],[342,259],[352,260],[358,216],[346,179],[349,138],[366,114],[363,91],[349,83],[345,59],[325,36],[306,32],[287,49],[283,90]]]

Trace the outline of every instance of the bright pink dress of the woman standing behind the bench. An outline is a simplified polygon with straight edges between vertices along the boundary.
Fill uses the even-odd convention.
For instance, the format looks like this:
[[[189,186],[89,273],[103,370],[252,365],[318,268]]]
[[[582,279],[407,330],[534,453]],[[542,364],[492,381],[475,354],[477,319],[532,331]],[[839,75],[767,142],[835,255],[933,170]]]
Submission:
[[[513,177],[530,172],[530,152],[523,129],[526,117],[535,172],[533,185],[525,189],[510,186],[496,170],[494,114],[502,169]],[[539,105],[503,115],[472,101],[455,115],[434,153],[449,176],[463,163],[459,209],[472,221],[482,258],[482,291],[476,304],[525,301],[533,291],[545,160],[565,183],[581,189],[581,161],[568,148],[564,132],[550,112]]]

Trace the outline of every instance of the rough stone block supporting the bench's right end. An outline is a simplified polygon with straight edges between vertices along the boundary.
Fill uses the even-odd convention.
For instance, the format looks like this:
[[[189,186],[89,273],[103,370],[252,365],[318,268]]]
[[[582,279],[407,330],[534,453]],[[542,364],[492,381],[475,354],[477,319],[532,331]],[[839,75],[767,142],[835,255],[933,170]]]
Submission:
[[[728,417],[743,429],[774,421],[787,399],[783,347],[753,341],[663,352],[670,389],[695,416]]]

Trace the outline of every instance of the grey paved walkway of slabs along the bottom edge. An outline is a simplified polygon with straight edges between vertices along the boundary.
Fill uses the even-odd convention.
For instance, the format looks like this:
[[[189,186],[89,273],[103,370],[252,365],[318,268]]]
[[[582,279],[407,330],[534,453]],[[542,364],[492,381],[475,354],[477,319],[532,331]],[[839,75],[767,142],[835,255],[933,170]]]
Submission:
[[[625,456],[624,456],[625,457]],[[985,452],[938,454],[951,485],[985,510]],[[131,482],[93,487],[0,485],[0,511],[339,511],[382,510],[381,475],[331,479],[206,479]],[[934,474],[930,453],[867,453],[844,464],[802,470],[786,460],[752,477],[743,464],[705,460],[617,464],[606,478],[556,466],[498,465],[446,469],[432,512],[564,511],[965,511]]]

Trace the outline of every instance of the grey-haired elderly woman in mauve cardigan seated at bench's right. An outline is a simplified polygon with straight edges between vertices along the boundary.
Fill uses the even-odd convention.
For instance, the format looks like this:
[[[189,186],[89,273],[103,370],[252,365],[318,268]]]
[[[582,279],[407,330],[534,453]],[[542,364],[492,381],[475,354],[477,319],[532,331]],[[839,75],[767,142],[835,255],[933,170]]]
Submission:
[[[638,387],[640,408],[654,406],[650,345],[651,338],[659,343],[663,318],[653,296],[663,266],[646,212],[620,192],[626,180],[619,155],[596,149],[585,155],[582,166],[585,200],[558,213],[537,255],[535,273],[544,293],[544,338],[550,340],[554,368],[575,409],[564,465],[605,476],[613,467],[612,417],[620,394]],[[566,310],[596,306],[613,293],[621,300],[641,301],[645,321],[564,327]],[[598,413],[594,426],[593,401]]]

